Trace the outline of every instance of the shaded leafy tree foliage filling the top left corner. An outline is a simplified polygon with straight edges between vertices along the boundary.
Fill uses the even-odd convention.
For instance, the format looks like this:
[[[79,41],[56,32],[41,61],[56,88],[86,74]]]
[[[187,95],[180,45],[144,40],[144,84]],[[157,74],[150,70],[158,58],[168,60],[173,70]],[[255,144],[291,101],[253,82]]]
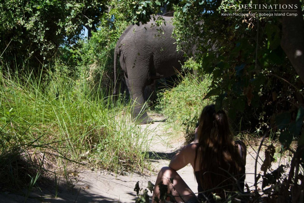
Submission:
[[[37,71],[42,64],[47,68],[60,46],[76,47],[83,26],[95,28],[100,14],[106,10],[104,3],[104,0],[2,1],[0,65],[9,63],[11,69],[19,71],[23,68]]]

